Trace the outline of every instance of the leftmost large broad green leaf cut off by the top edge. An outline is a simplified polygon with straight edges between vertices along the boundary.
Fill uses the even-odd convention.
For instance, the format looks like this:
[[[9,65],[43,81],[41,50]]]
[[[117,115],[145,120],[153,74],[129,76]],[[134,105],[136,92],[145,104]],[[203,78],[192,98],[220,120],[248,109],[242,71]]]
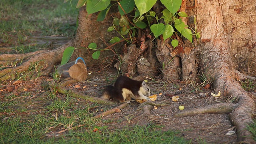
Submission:
[[[88,14],[105,10],[110,4],[110,0],[87,0],[86,10]]]

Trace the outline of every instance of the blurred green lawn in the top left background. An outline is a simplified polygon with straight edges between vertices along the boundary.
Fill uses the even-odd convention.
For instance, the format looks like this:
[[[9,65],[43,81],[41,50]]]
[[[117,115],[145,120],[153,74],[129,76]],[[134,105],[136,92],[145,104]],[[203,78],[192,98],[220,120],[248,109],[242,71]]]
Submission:
[[[16,52],[24,53],[38,49],[24,50],[27,36],[72,37],[76,32],[78,9],[76,1],[71,4],[61,0],[1,0],[0,39],[4,46],[19,46]]]

